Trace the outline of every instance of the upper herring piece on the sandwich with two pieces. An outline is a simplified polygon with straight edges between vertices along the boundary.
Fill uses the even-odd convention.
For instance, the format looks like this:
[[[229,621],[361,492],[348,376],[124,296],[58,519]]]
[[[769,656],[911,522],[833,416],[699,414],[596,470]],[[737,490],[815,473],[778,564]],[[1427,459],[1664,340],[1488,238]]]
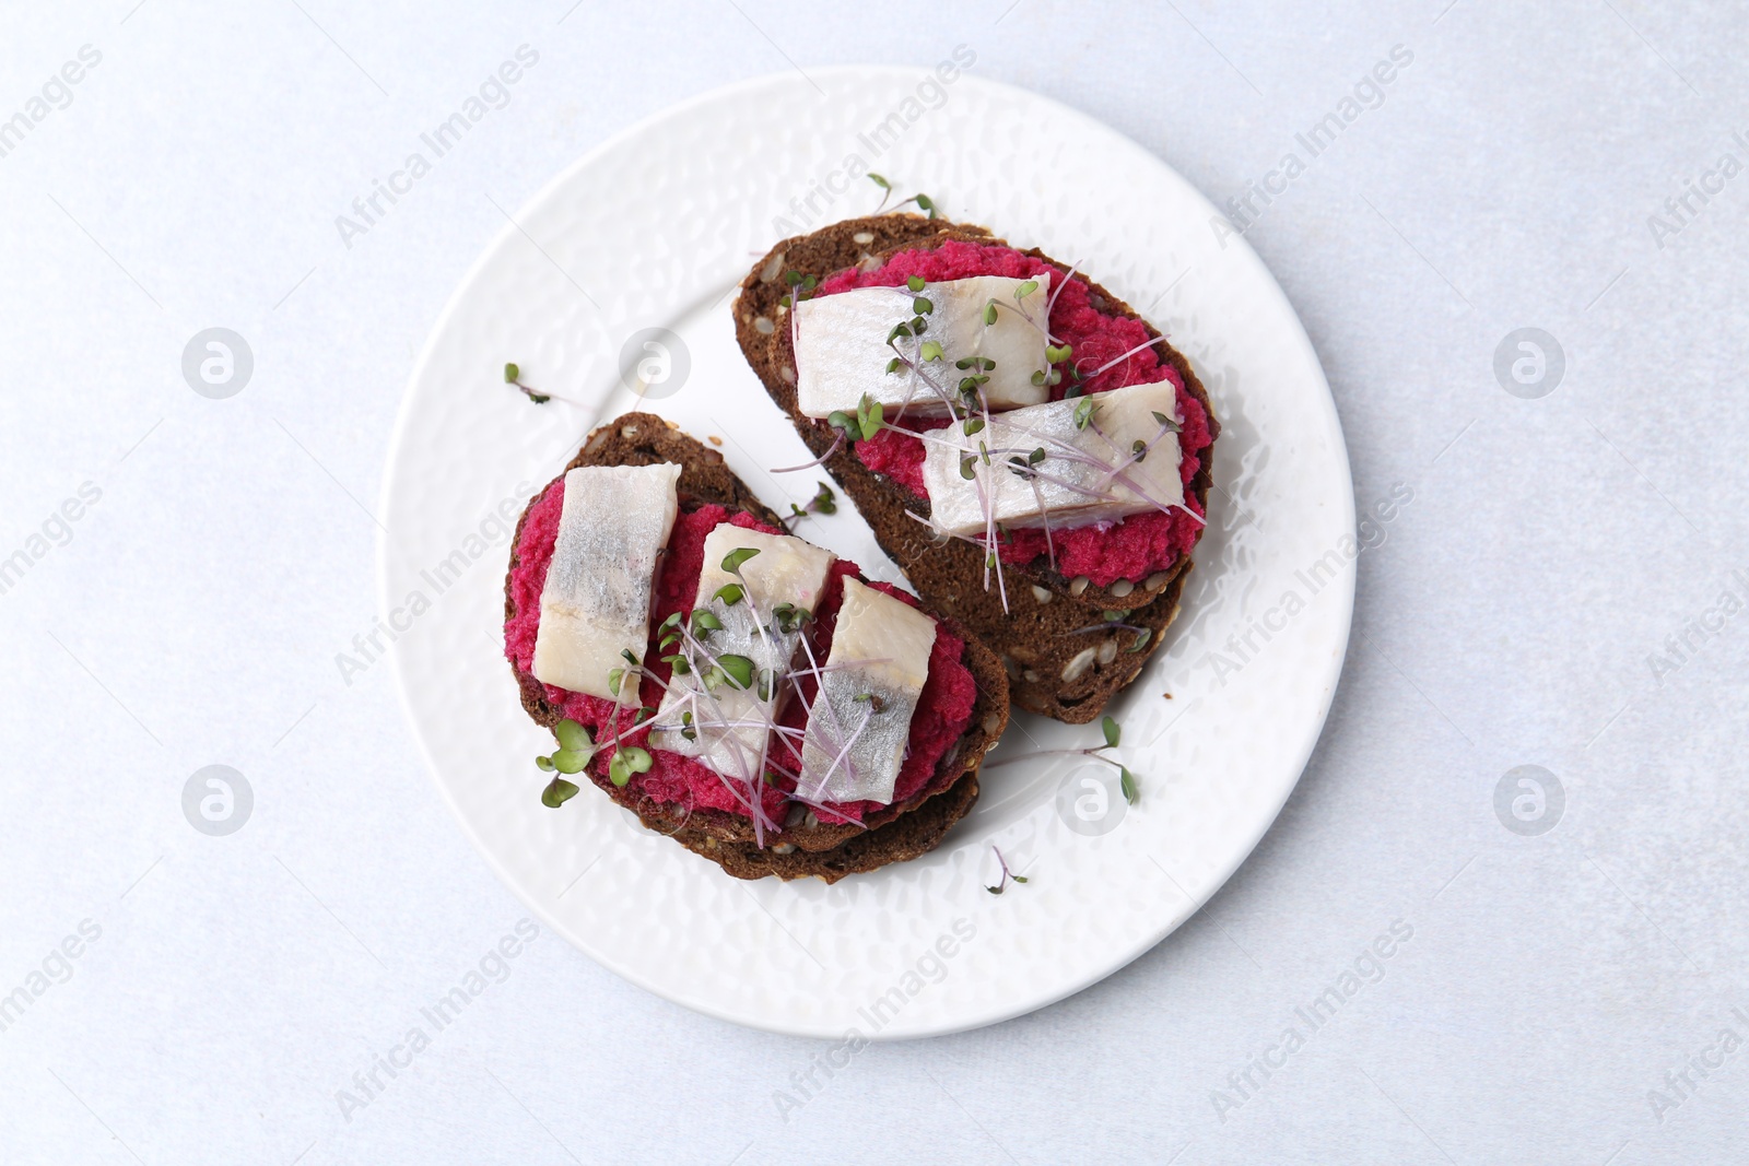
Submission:
[[[1037,287],[1023,299],[1014,292],[1023,283]],[[1009,276],[971,276],[925,283],[922,292],[908,287],[859,287],[836,295],[820,295],[796,304],[796,402],[810,418],[827,418],[833,411],[852,413],[868,393],[881,406],[902,406],[916,416],[944,416],[948,406],[909,371],[887,372],[892,350],[887,336],[892,325],[911,320],[911,301],[929,299],[934,311],[925,315],[922,337],[899,337],[899,350],[916,360],[923,341],[939,341],[941,360],[923,367],[930,379],[955,393],[960,378],[976,369],[957,369],[964,357],[988,357],[995,367],[983,386],[992,411],[1014,409],[1046,400],[1049,390],[1034,385],[1034,372],[1048,372],[1044,358],[1046,315],[1051,301],[1051,276],[1034,280]],[[995,301],[995,323],[985,323],[985,308]],[[1018,308],[1018,311],[1016,311]]]

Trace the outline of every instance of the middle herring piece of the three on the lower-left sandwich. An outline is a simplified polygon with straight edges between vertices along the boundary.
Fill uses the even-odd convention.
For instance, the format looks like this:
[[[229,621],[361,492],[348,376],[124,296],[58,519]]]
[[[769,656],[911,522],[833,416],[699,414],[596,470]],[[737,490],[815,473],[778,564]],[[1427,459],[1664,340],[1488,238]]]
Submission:
[[[738,549],[759,554],[742,563],[747,593],[740,603],[717,600],[721,587],[736,582],[722,570],[722,559]],[[754,682],[747,689],[719,684],[707,689],[701,673],[707,659],[689,659],[693,671],[673,677],[663,696],[656,718],[651,722],[651,745],[672,753],[698,757],[705,766],[738,781],[761,776],[759,759],[766,748],[771,722],[782,711],[789,684],[784,677],[796,663],[803,628],[782,631],[773,612],[778,603],[792,603],[810,614],[819,608],[820,594],[831,573],[836,554],[794,535],[766,535],[757,530],[722,523],[705,537],[705,565],[698,575],[694,610],[707,608],[722,621],[721,631],[705,636],[712,656],[745,656],[754,663]],[[761,635],[763,624],[763,635]],[[771,682],[761,694],[761,675],[770,670]],[[686,727],[682,713],[693,713],[694,738],[680,734]],[[778,760],[792,767],[792,753],[782,750]]]

